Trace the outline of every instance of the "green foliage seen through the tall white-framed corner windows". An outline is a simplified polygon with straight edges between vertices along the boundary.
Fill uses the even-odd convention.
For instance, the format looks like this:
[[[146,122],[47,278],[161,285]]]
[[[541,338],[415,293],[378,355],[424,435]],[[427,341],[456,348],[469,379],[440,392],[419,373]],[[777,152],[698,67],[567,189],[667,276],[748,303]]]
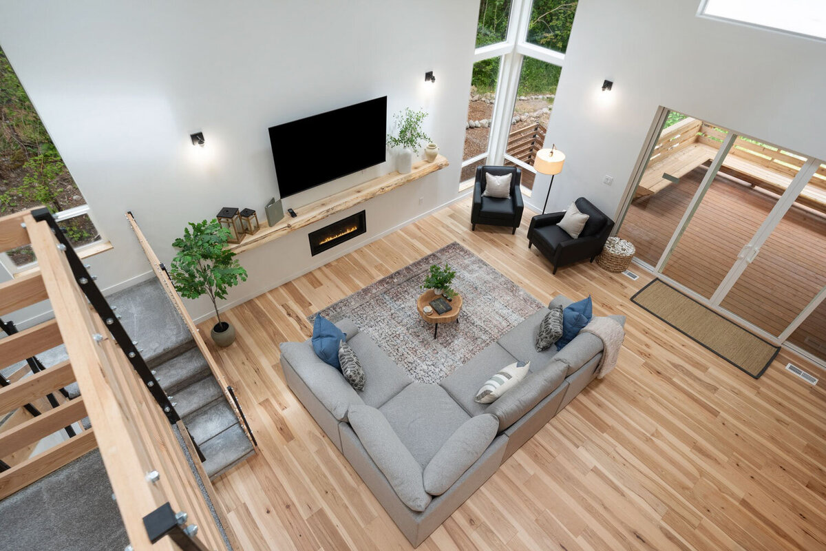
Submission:
[[[576,0],[534,0],[528,26],[528,42],[564,52],[571,36],[576,11]],[[477,47],[505,40],[509,16],[510,0],[482,0],[479,5]],[[496,58],[473,64],[472,85],[478,93],[493,92],[496,89],[499,62],[499,58]],[[525,57],[519,95],[556,93],[561,70],[557,65]]]

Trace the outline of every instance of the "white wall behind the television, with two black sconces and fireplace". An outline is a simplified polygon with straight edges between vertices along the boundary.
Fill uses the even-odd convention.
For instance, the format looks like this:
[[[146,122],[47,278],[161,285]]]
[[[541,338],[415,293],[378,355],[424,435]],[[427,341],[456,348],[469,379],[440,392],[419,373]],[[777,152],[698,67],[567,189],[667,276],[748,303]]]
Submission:
[[[149,270],[127,210],[165,261],[187,221],[223,206],[252,207],[264,220],[263,205],[278,195],[268,126],[382,95],[390,113],[430,112],[425,130],[448,169],[351,209],[366,207],[368,233],[346,246],[311,258],[306,234],[319,223],[241,254],[249,281],[231,304],[457,196],[477,10],[477,0],[0,0],[0,45],[115,247],[89,261],[105,288]],[[435,85],[424,82],[428,70]],[[204,148],[192,146],[194,131],[204,132]],[[308,147],[321,159],[325,148],[355,145],[320,129]],[[300,210],[393,169],[388,162],[285,203]],[[209,308],[190,304],[196,317]]]

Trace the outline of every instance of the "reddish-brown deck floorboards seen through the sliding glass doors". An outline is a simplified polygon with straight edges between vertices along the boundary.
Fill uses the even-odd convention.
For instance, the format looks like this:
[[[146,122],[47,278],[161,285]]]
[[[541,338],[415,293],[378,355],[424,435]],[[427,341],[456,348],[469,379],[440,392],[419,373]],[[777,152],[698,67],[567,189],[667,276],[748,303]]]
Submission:
[[[657,194],[631,203],[619,235],[655,265],[666,248],[705,169],[697,168]],[[715,178],[663,273],[704,297],[723,281],[762,224],[776,197],[729,178]],[[795,319],[826,285],[826,217],[792,207],[763,245],[723,306],[773,335]],[[806,324],[810,339],[824,340],[826,312]]]

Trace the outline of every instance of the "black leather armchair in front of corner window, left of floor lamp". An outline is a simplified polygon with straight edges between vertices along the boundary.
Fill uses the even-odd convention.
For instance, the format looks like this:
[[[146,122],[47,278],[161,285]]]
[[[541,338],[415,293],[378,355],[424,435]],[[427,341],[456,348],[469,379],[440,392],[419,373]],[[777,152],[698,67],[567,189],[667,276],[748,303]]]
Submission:
[[[485,191],[487,178],[485,174],[502,176],[512,174],[510,177],[510,199],[498,197],[482,197]],[[477,224],[489,224],[491,226],[507,226],[513,228],[512,234],[516,233],[516,228],[522,222],[522,211],[525,205],[522,202],[522,192],[520,192],[520,180],[522,169],[510,166],[480,166],[476,168],[476,185],[473,187],[473,209],[470,214],[471,229],[476,230]]]

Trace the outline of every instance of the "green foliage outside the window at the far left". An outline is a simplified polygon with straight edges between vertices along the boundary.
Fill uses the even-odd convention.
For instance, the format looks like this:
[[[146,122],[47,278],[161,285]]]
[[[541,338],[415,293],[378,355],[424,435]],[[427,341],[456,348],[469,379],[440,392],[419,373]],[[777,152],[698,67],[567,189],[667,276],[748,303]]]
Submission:
[[[77,188],[35,107],[0,50],[0,212],[43,204],[62,211]],[[82,202],[80,204],[83,204]]]

